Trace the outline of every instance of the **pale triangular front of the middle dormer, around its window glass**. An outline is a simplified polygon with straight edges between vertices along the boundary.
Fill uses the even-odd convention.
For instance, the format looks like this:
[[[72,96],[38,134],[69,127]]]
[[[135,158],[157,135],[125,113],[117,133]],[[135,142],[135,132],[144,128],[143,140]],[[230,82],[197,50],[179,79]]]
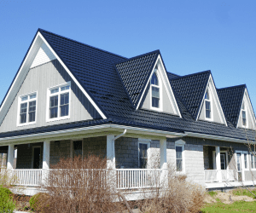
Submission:
[[[210,95],[211,106],[212,106],[211,107],[212,117],[210,119],[206,118],[206,112],[205,112],[205,95],[207,91]],[[224,116],[224,111],[218,99],[217,89],[212,79],[212,74],[210,74],[210,77],[208,79],[207,88],[205,89],[203,100],[201,101],[201,110],[197,116],[197,119],[198,118],[227,125],[227,122]]]

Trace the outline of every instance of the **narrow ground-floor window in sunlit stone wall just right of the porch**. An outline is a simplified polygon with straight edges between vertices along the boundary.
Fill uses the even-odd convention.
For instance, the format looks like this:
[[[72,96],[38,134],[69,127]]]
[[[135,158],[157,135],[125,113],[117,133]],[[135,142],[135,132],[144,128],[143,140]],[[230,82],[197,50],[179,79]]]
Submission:
[[[176,152],[176,170],[178,172],[184,172],[184,147],[185,142],[182,140],[175,142],[175,152]]]

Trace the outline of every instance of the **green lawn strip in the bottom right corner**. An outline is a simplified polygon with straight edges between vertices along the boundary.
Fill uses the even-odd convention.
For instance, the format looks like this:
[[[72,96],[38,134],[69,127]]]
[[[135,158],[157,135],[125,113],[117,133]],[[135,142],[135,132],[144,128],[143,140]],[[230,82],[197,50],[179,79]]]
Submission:
[[[256,212],[256,201],[236,201],[233,204],[205,204],[204,208],[201,209],[202,213],[230,213],[230,212]]]

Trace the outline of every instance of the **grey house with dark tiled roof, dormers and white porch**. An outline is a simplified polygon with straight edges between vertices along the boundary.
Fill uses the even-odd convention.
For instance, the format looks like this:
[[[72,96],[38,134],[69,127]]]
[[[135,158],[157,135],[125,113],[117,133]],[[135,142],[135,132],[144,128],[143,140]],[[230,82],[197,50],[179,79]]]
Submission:
[[[159,50],[128,59],[38,29],[1,104],[0,164],[24,186],[88,152],[122,174],[170,164],[207,188],[252,185],[255,124],[245,84],[217,89],[211,71],[167,72]]]

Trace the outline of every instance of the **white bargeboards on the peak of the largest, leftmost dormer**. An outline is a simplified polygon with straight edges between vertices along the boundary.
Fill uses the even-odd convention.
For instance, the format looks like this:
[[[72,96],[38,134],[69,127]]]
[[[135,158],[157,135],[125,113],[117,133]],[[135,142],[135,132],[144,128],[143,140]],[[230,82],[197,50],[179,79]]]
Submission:
[[[166,92],[167,92],[168,98],[169,98],[169,100],[170,100],[170,102],[171,102],[172,109],[173,109],[173,111],[174,111],[180,118],[182,118],[181,113],[179,112],[179,108],[177,107],[177,101],[176,101],[175,96],[174,96],[174,94],[173,94],[172,87],[171,87],[170,81],[169,81],[169,79],[168,79],[168,77],[167,77],[166,69],[165,69],[165,66],[164,66],[164,64],[163,64],[163,61],[161,60],[160,55],[158,55],[158,57],[157,57],[157,59],[156,59],[156,61],[155,61],[155,63],[154,63],[153,70],[151,71],[150,76],[149,76],[149,78],[148,78],[148,82],[146,83],[146,86],[145,86],[145,88],[143,89],[143,95],[141,96],[140,101],[139,101],[138,104],[137,104],[136,110],[138,109],[138,107],[140,107],[140,104],[141,104],[141,102],[142,102],[142,100],[143,100],[143,96],[144,96],[144,94],[145,94],[145,92],[146,92],[146,89],[147,89],[147,87],[148,87],[148,83],[150,82],[150,79],[152,78],[152,75],[154,74],[154,67],[157,65],[158,61],[160,61],[161,66],[162,66],[163,69],[164,69],[164,75],[165,75],[165,76],[163,76],[163,72],[160,72],[160,70],[159,70],[159,73],[160,73],[160,75],[161,75],[161,77],[162,77],[162,82],[163,82],[163,84],[164,84],[164,86],[165,86],[165,88],[166,88]],[[166,78],[166,81],[165,81],[165,78]],[[166,85],[166,82],[167,82],[167,85]],[[173,106],[172,98],[171,98],[171,95],[169,94],[169,89],[167,89],[167,87],[169,87],[169,89],[171,90],[171,93],[172,93],[172,96],[173,96],[173,101],[174,101],[174,103],[175,103],[175,106]]]

